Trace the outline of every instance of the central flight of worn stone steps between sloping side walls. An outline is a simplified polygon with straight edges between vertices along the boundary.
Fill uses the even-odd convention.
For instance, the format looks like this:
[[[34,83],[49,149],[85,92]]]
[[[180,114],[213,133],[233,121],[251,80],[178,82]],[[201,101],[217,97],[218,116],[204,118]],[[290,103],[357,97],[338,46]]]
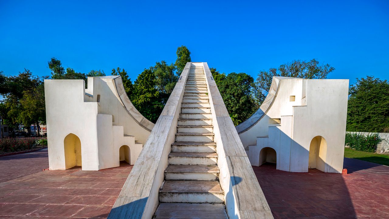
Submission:
[[[228,218],[204,69],[192,66],[154,218]]]

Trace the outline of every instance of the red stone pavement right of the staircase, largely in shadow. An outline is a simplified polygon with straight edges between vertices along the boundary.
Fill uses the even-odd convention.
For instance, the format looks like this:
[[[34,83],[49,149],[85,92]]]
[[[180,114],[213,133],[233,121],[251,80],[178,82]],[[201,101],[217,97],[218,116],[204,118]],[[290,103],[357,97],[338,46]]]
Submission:
[[[253,169],[276,219],[388,219],[389,167],[349,158],[344,167],[349,174]]]

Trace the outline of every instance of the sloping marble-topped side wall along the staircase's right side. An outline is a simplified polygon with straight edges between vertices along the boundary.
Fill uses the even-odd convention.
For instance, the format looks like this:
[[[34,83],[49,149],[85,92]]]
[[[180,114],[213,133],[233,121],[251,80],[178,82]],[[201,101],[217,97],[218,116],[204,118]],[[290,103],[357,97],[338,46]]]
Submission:
[[[219,181],[224,191],[227,215],[230,219],[272,219],[270,207],[208,64],[203,62],[203,65],[217,145]]]

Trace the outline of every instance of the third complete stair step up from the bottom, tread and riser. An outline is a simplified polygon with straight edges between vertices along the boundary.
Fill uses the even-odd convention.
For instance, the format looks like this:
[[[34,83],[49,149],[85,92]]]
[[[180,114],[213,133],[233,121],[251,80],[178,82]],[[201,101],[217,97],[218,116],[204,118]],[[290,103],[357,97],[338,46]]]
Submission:
[[[169,165],[217,165],[216,153],[170,152]]]

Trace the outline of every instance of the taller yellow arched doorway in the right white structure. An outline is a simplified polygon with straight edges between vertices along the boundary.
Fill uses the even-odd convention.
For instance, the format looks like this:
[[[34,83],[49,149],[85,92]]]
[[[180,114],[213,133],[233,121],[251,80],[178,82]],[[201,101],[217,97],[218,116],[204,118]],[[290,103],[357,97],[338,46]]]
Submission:
[[[308,168],[316,168],[324,172],[327,156],[327,141],[322,136],[312,139],[309,146]]]

